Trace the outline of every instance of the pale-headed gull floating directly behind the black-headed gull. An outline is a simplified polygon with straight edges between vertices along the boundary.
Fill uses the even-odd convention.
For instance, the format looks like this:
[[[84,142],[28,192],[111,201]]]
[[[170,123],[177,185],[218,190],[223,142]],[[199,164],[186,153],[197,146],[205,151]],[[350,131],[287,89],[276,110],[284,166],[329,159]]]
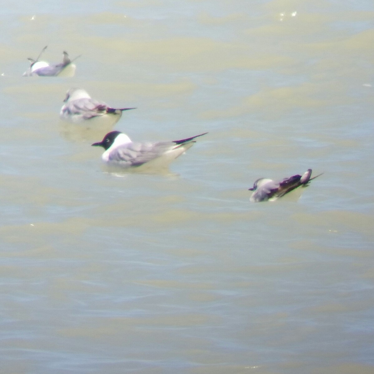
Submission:
[[[60,111],[60,118],[73,123],[84,122],[95,117],[111,116],[115,122],[122,116],[122,111],[136,108],[111,108],[102,101],[92,99],[81,88],[71,88],[66,93],[64,105]]]

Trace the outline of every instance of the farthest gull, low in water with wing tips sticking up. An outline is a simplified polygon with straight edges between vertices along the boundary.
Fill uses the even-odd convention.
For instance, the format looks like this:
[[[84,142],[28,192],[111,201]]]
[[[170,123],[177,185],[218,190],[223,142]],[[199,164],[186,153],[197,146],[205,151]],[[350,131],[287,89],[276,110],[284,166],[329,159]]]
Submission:
[[[39,56],[36,60],[28,58],[28,61],[31,62],[30,67],[22,74],[24,77],[30,77],[33,75],[43,76],[43,77],[56,77],[60,75],[67,67],[70,68],[69,76],[74,76],[76,66],[73,64],[78,57],[70,60],[69,55],[66,51],[63,52],[63,61],[60,64],[49,65],[48,62],[39,61],[40,56],[45,51],[47,46],[45,46],[42,51],[39,53]]]

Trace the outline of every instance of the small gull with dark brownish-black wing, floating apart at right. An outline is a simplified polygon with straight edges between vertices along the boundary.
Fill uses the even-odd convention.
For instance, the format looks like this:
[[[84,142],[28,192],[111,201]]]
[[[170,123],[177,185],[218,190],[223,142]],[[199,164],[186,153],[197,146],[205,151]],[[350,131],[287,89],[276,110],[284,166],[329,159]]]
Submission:
[[[292,175],[292,177],[285,178],[282,181],[260,178],[255,181],[252,188],[249,188],[249,191],[253,191],[249,200],[252,203],[266,200],[274,201],[299,186],[306,187],[311,180],[322,174],[310,178],[311,169],[308,169],[303,175]]]

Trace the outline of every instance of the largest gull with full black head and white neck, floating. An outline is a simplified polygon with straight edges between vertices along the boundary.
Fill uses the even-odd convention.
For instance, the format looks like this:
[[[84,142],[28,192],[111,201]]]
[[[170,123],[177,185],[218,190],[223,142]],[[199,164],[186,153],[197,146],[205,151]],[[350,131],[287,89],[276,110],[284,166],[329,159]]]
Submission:
[[[157,164],[158,167],[165,168],[171,161],[192,147],[196,142],[195,138],[205,134],[207,132],[181,140],[139,143],[131,141],[122,132],[111,131],[101,142],[92,145],[104,148],[101,158],[107,165],[130,168],[149,163],[152,166]]]

